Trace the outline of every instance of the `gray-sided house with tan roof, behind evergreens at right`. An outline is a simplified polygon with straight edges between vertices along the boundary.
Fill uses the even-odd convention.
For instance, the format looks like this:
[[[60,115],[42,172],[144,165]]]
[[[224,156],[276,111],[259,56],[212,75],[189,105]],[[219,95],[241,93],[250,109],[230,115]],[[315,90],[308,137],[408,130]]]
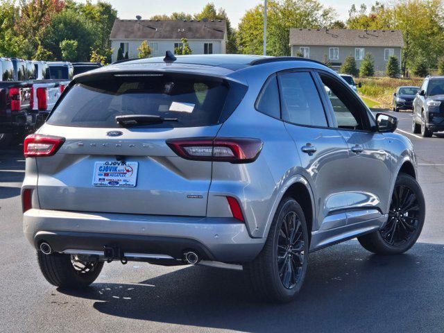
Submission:
[[[366,53],[372,53],[375,71],[382,74],[390,56],[401,61],[404,40],[399,30],[292,28],[290,46],[291,56],[302,53],[320,62],[327,59],[334,69],[339,69],[348,56],[355,58],[359,69]]]

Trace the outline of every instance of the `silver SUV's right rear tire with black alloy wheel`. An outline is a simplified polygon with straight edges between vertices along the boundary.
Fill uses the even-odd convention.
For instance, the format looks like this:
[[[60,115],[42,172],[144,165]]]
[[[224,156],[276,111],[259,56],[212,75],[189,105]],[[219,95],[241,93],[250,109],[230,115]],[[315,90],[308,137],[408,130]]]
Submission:
[[[282,236],[282,233],[285,234],[285,225],[290,238],[294,240],[293,252],[289,246],[284,246],[288,244],[287,239]],[[296,228],[292,228],[294,225]],[[293,232],[295,229],[296,232]],[[307,273],[308,250],[309,235],[304,212],[296,200],[284,198],[273,218],[264,248],[253,262],[244,265],[253,296],[279,303],[296,298]],[[289,271],[294,272],[294,275],[287,275]]]

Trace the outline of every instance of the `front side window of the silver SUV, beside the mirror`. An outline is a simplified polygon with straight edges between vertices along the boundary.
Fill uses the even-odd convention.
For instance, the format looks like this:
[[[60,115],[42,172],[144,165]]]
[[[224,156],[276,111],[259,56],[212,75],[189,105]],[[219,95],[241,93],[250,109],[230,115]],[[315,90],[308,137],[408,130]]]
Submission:
[[[320,76],[332,104],[338,127],[348,130],[366,130],[368,116],[366,112],[363,112],[362,105],[355,101],[352,93],[345,89],[339,80],[323,74]]]

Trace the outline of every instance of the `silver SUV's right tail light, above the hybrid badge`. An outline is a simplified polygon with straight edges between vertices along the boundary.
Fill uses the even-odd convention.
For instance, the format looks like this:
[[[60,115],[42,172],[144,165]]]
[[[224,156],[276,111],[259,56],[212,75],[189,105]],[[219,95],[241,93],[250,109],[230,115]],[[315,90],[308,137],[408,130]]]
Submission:
[[[167,144],[180,157],[195,161],[250,163],[262,150],[262,140],[236,137],[169,139]]]

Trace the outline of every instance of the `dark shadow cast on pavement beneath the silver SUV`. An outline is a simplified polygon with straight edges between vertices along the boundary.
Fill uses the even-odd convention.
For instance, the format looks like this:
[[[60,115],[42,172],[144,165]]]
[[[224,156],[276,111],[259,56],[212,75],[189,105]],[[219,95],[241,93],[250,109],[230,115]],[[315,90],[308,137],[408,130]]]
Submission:
[[[94,309],[110,316],[244,332],[412,332],[429,323],[443,332],[443,259],[443,245],[383,257],[348,241],[310,255],[305,286],[286,305],[255,301],[243,272],[202,266],[60,292],[96,300]]]

